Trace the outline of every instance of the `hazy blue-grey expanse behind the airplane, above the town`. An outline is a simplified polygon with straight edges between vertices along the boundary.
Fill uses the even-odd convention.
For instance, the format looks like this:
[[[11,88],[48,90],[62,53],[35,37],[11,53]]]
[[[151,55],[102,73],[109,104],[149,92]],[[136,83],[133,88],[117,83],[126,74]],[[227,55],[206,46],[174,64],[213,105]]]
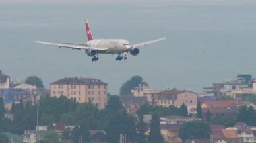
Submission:
[[[49,88],[63,77],[92,77],[117,94],[133,75],[155,89],[195,92],[240,73],[256,75],[255,1],[0,3],[0,70],[11,79],[37,75]],[[162,36],[167,40],[121,62],[116,55],[100,55],[91,62],[83,50],[34,42],[84,43],[85,17],[94,38],[125,38],[132,44]]]

